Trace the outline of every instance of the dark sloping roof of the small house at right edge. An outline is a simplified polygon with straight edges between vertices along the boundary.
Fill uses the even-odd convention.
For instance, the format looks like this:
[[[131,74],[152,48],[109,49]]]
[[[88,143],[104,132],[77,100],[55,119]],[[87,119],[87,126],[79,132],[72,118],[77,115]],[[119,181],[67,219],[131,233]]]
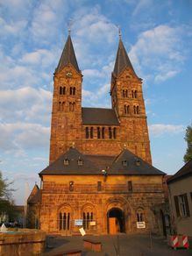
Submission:
[[[167,180],[167,183],[181,180],[192,175],[192,160],[189,160],[181,169]]]

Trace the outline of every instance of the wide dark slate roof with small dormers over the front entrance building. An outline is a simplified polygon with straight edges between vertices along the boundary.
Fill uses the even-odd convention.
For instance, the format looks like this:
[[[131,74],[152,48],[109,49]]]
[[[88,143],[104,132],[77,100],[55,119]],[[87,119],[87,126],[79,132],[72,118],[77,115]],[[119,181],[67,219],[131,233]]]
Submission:
[[[64,160],[68,160],[68,165],[64,164]],[[78,160],[82,160],[82,165],[78,164]],[[126,166],[123,165],[123,161],[127,162]],[[118,156],[111,156],[82,154],[77,149],[70,148],[67,153],[62,154],[58,160],[42,170],[39,176],[44,174],[101,175],[103,169],[109,175],[164,175],[163,172],[127,149]]]

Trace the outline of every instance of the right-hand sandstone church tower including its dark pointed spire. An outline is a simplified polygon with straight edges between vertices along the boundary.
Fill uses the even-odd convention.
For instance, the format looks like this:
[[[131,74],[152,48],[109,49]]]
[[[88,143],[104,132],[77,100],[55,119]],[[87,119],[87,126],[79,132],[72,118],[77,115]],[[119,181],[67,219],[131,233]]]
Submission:
[[[116,111],[120,121],[120,140],[132,153],[151,164],[142,79],[132,67],[121,35],[111,75],[110,96],[112,109]]]

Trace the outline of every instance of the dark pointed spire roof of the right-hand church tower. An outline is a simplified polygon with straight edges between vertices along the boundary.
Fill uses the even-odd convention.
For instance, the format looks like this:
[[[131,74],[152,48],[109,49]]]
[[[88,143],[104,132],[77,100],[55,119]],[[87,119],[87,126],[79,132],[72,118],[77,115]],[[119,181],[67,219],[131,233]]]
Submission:
[[[113,69],[113,74],[114,75],[120,75],[120,73],[125,69],[125,68],[131,68],[132,71],[135,74],[134,69],[132,68],[132,62],[130,61],[126,50],[124,48],[124,44],[121,39],[119,39],[119,44],[118,44],[118,49],[117,49],[117,56],[116,56],[116,62],[115,62],[115,67]],[[136,74],[135,74],[136,75]]]

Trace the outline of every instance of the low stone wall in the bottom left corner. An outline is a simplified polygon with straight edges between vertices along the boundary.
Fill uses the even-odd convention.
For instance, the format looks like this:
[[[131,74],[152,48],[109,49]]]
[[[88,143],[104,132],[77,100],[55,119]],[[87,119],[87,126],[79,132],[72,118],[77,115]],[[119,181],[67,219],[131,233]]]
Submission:
[[[39,230],[19,229],[0,232],[1,256],[30,256],[44,251],[46,233]]]

